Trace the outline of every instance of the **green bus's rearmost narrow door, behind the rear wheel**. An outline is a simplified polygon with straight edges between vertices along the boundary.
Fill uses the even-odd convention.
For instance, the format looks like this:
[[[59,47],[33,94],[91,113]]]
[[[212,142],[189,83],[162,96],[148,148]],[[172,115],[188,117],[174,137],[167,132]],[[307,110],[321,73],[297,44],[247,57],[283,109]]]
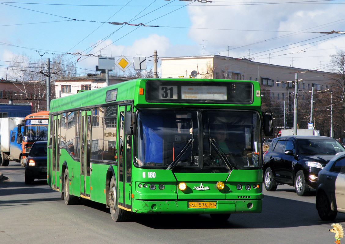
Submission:
[[[52,134],[52,186],[60,188],[60,121],[61,115],[54,116]]]

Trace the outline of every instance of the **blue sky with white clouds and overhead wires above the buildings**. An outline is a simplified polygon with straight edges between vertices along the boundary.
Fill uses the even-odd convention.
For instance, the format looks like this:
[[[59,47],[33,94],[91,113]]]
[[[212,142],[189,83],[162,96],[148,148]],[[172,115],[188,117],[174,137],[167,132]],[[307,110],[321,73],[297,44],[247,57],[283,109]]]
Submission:
[[[317,32],[344,32],[344,9],[345,0],[0,0],[0,77],[11,77],[15,56],[45,63],[63,55],[85,75],[96,73],[99,55],[146,57],[150,68],[154,50],[330,71],[345,34]]]

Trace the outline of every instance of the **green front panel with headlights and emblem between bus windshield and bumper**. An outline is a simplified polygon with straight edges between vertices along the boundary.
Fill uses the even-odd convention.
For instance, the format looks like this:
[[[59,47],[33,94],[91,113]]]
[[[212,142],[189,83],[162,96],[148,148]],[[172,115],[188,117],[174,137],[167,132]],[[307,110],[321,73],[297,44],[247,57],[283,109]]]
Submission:
[[[134,199],[140,200],[156,200],[156,199],[262,199],[262,170],[233,170],[229,173],[175,173],[170,170],[133,170],[134,179]],[[155,172],[155,178],[147,178],[149,172]],[[143,177],[145,175],[146,177]],[[234,177],[233,177],[234,176]],[[225,188],[217,189],[217,182],[223,181]],[[181,191],[178,184],[184,182],[187,189]],[[205,190],[197,190],[195,188],[207,188]],[[141,184],[141,187],[139,187]],[[147,187],[144,187],[147,184]],[[156,186],[155,190],[149,188],[150,184]],[[165,188],[160,190],[158,187],[164,184]],[[243,185],[242,189],[237,190],[237,184]],[[250,189],[246,190],[245,186],[250,185]],[[255,185],[255,188],[253,187]],[[256,187],[259,185],[259,188]]]

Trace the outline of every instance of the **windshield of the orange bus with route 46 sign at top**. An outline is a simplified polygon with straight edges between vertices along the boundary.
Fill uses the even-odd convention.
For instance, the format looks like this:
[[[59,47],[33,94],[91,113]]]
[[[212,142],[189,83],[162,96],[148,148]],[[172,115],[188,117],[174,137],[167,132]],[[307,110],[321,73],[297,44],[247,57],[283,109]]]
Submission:
[[[48,119],[25,120],[23,141],[46,141],[48,139]]]

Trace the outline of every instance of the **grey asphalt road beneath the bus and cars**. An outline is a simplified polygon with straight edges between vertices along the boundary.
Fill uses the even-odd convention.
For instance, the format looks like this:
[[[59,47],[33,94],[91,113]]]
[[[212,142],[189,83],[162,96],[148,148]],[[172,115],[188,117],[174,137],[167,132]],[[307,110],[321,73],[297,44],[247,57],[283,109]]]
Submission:
[[[209,215],[139,215],[130,222],[112,221],[103,204],[82,200],[65,205],[46,180],[24,183],[19,163],[0,166],[0,243],[334,243],[333,222],[319,219],[315,191],[298,197],[293,187],[264,189],[262,213],[231,214],[225,223]],[[345,214],[334,222],[345,227]],[[342,242],[345,241],[341,240]]]

